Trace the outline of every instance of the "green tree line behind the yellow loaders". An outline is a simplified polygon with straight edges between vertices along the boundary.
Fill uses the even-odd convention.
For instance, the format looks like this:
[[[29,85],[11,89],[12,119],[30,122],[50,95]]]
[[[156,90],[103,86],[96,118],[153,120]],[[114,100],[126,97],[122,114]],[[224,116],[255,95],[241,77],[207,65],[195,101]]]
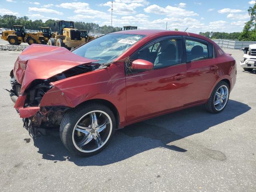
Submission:
[[[0,28],[13,28],[14,25],[23,25],[26,29],[30,30],[39,30],[40,27],[50,27],[52,31],[57,31],[57,26],[54,26],[55,20],[49,19],[46,22],[40,20],[32,21],[27,16],[16,17],[14,15],[4,15],[0,16]],[[91,33],[101,33],[108,34],[116,31],[122,30],[121,27],[112,27],[112,26],[99,26],[96,23],[86,23],[86,22],[74,22],[74,27],[79,30],[87,30]]]

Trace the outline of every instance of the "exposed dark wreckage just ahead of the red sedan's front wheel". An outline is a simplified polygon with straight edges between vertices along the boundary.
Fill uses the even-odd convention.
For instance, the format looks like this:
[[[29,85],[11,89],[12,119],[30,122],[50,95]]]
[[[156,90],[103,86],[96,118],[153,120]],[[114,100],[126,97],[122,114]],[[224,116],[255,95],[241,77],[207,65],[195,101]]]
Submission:
[[[63,106],[41,107],[34,116],[24,119],[23,126],[32,138],[41,135],[58,135],[60,122],[69,109]]]

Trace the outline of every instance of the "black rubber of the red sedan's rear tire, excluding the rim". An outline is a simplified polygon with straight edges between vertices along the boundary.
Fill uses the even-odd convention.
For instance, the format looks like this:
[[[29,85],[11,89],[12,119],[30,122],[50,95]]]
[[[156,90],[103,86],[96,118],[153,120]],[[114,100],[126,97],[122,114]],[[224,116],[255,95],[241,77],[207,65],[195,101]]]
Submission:
[[[214,88],[214,90],[212,91],[212,94],[211,94],[209,100],[208,100],[208,101],[206,102],[206,104],[205,104],[206,110],[208,110],[208,111],[211,112],[211,113],[220,113],[220,112],[222,112],[222,111],[226,108],[226,106],[227,106],[227,104],[228,104],[228,100],[227,100],[227,102],[226,102],[224,108],[222,108],[221,110],[216,110],[216,108],[215,108],[215,106],[214,106],[215,94],[216,94],[217,90],[218,90],[221,86],[223,86],[223,85],[228,88],[228,99],[229,99],[230,87],[229,87],[229,85],[228,85],[226,82],[220,81],[220,82],[215,86],[215,88]]]

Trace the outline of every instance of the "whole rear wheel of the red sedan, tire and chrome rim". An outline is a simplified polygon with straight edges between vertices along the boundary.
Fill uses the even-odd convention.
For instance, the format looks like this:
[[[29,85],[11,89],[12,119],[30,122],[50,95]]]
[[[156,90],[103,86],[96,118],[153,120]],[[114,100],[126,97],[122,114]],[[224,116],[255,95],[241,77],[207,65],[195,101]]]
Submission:
[[[220,113],[228,103],[230,87],[224,81],[220,81],[212,91],[205,108],[211,113]]]

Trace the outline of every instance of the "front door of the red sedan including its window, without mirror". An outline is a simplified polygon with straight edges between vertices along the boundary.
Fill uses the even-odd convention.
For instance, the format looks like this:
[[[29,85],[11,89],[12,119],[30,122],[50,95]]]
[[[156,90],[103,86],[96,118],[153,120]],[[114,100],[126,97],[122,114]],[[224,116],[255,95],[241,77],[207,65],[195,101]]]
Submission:
[[[129,71],[126,66],[126,116],[133,121],[184,104],[186,63],[182,59],[182,37],[156,40],[131,57],[154,63],[154,70]]]

